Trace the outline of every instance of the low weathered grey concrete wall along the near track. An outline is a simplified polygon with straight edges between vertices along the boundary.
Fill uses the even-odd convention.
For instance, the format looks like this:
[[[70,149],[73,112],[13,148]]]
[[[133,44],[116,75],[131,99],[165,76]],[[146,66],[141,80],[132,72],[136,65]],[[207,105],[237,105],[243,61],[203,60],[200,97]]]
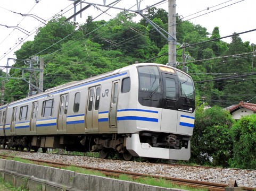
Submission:
[[[120,181],[52,167],[0,159],[0,176],[15,187],[29,190],[179,190]]]

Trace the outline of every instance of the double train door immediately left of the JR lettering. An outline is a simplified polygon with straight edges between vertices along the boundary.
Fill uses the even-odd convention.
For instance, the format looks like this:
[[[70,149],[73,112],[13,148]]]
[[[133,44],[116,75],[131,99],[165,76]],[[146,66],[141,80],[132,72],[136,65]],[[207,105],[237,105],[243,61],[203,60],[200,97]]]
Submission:
[[[98,107],[100,105],[101,86],[89,88],[86,112],[86,128],[98,131]]]

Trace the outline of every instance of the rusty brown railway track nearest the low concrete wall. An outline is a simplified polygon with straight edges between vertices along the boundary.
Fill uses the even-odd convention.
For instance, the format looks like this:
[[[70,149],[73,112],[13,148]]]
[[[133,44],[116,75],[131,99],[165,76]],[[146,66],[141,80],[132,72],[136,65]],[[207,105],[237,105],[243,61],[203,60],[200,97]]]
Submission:
[[[2,159],[10,159],[14,158],[13,156],[0,154],[0,158]],[[52,162],[46,160],[36,160],[36,159],[27,159],[21,158],[24,160],[31,161],[32,163],[39,164],[39,165],[47,165],[55,168],[65,168],[71,166],[70,164],[62,163],[62,162]],[[73,165],[72,165],[73,166]],[[109,169],[102,169],[102,168],[94,168],[94,167],[86,167],[86,166],[79,166],[76,165],[75,167],[83,168],[87,170],[97,171],[103,173],[107,177],[119,177],[120,175],[126,175],[131,179],[144,179],[144,178],[154,178],[154,179],[164,179],[172,184],[179,185],[179,186],[188,186],[193,188],[204,188],[211,191],[223,191],[225,187],[228,185],[226,184],[217,184],[217,183],[209,183],[207,181],[196,181],[196,180],[189,180],[189,179],[180,179],[180,178],[171,178],[171,177],[162,177],[162,176],[152,176],[152,175],[145,175],[142,173],[134,173],[134,172],[125,172],[119,170],[109,170]],[[255,190],[255,188],[251,187],[242,187],[243,190]]]

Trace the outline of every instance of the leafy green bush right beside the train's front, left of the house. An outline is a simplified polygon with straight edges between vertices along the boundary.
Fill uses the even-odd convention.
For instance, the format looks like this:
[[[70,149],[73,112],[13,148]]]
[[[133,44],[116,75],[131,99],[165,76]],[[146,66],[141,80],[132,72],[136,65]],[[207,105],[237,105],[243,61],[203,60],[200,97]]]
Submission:
[[[214,166],[228,166],[232,157],[232,138],[230,128],[234,123],[228,111],[213,106],[196,110],[195,127],[191,142],[191,161],[199,164],[209,163]]]

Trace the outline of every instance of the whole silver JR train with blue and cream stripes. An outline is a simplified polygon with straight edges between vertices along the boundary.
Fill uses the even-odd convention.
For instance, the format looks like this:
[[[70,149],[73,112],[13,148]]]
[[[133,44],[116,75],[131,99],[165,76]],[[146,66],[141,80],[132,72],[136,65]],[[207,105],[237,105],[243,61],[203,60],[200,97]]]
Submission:
[[[191,76],[141,63],[0,106],[0,145],[189,160],[194,121]]]

